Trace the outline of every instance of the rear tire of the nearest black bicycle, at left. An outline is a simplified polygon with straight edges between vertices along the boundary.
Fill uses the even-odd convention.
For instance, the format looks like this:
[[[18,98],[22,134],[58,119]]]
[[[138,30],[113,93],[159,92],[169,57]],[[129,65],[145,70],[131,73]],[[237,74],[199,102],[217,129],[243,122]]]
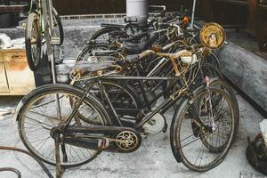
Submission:
[[[84,91],[81,90],[81,89],[78,89],[77,87],[71,86],[71,85],[59,85],[59,84],[57,84],[57,85],[43,85],[41,87],[38,87],[38,88],[36,88],[35,90],[33,90],[31,93],[29,93],[27,96],[25,96],[22,99],[23,106],[19,110],[19,115],[17,117],[17,120],[18,120],[18,130],[19,130],[19,134],[20,134],[20,139],[23,142],[23,144],[25,145],[25,147],[32,154],[34,154],[37,158],[40,158],[45,163],[54,166],[55,165],[55,159],[44,158],[44,155],[41,154],[40,152],[38,152],[40,150],[35,150],[35,148],[32,145],[33,143],[31,144],[31,143],[28,142],[28,137],[27,137],[27,135],[25,133],[25,128],[26,127],[24,126],[25,123],[26,123],[25,122],[25,117],[27,117],[27,115],[25,115],[25,112],[27,112],[27,110],[29,110],[28,107],[33,106],[34,103],[36,103],[36,101],[38,99],[41,99],[42,100],[43,99],[43,98],[41,98],[42,96],[44,97],[45,94],[50,94],[50,93],[53,93],[53,94],[56,94],[56,93],[67,93],[67,95],[69,95],[69,97],[70,96],[75,96],[75,97],[77,97],[77,98],[80,99],[81,96],[83,95]],[[63,97],[63,94],[62,94],[62,97]],[[101,119],[102,119],[102,125],[111,125],[111,121],[109,120],[109,114],[106,111],[106,109],[104,109],[102,107],[100,101],[98,101],[95,97],[89,95],[88,97],[85,98],[85,101],[84,102],[87,105],[93,106],[93,109],[95,109],[97,111],[97,113],[99,113],[99,116],[101,116]],[[47,103],[49,104],[49,102],[46,102],[46,104]],[[38,103],[36,103],[36,104],[38,104]],[[43,105],[41,104],[40,106],[43,106]],[[35,109],[35,108],[36,107],[30,108],[30,109]],[[38,120],[40,120],[39,117],[38,117]],[[45,126],[45,125],[43,124],[43,126]],[[49,136],[51,137],[50,134],[49,134]],[[50,146],[49,148],[51,149],[51,145],[49,145],[49,146]],[[92,161],[100,153],[101,153],[101,151],[96,151],[93,154],[93,156],[91,156],[91,155],[89,156],[90,158],[85,158],[85,160],[80,160],[80,161],[73,162],[73,163],[72,162],[71,163],[62,163],[61,162],[61,166],[62,167],[66,167],[66,168],[67,167],[82,166],[82,165],[84,165],[84,164]],[[70,152],[70,154],[71,154],[71,152]],[[83,153],[83,154],[85,154],[85,153]],[[47,156],[47,157],[49,157],[49,156]]]

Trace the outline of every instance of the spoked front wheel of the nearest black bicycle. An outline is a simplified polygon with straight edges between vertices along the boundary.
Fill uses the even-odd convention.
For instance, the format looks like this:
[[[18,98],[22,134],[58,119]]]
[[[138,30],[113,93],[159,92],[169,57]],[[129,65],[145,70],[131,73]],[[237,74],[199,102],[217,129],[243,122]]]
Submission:
[[[198,111],[198,118],[192,116],[192,107]],[[183,100],[171,126],[171,146],[176,160],[198,172],[222,163],[236,133],[234,112],[229,94],[217,87],[209,87],[209,93],[202,88],[193,100]]]

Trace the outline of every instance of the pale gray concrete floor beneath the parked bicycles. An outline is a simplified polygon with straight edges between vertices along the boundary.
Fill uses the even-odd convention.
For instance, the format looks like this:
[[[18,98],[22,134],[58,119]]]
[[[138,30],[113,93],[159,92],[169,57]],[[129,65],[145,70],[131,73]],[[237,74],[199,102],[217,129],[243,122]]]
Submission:
[[[253,138],[259,133],[258,123],[263,120],[257,111],[247,101],[238,95],[240,109],[239,134],[227,158],[220,166],[206,173],[195,173],[182,164],[178,164],[173,156],[169,143],[169,132],[166,134],[150,135],[142,142],[139,150],[131,154],[101,153],[93,162],[74,169],[69,169],[64,178],[104,178],[104,177],[263,177],[248,165],[245,157],[247,136]],[[0,113],[12,109],[20,97],[0,97]],[[166,114],[171,119],[173,111]],[[17,125],[14,125],[12,116],[0,117],[0,145],[24,148],[20,142]],[[40,166],[32,158],[14,153],[0,151],[0,167],[12,166],[20,170],[22,178],[47,177]],[[54,167],[48,166],[54,175]],[[244,174],[244,176],[240,176]],[[12,173],[0,173],[0,178],[13,178]]]

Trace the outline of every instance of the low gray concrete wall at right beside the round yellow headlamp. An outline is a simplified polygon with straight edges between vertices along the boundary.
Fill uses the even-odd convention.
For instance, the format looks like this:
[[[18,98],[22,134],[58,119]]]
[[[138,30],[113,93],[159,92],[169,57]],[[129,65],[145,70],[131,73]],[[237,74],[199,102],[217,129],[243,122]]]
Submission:
[[[231,42],[219,58],[224,75],[267,111],[267,61]]]

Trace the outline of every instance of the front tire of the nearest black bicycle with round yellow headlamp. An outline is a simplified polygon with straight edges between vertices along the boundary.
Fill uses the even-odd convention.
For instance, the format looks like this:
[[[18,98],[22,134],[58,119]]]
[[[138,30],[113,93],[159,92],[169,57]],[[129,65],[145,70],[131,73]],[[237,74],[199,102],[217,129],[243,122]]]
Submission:
[[[215,91],[216,93],[220,93],[223,95],[224,98],[226,98],[226,101],[228,103],[228,106],[231,110],[231,120],[235,119],[234,117],[234,103],[231,101],[231,97],[229,96],[228,93],[225,93],[222,89],[219,89],[217,87],[214,86],[210,86],[210,91]],[[198,88],[195,92],[194,92],[194,99],[196,100],[198,97],[201,97],[201,94],[206,93],[206,88],[205,87],[200,87]],[[171,132],[170,132],[170,142],[171,142],[171,147],[172,147],[172,151],[174,154],[174,158],[176,159],[177,162],[182,162],[184,166],[188,167],[190,170],[193,171],[197,171],[197,172],[206,172],[212,168],[214,168],[215,166],[220,165],[223,162],[223,159],[226,158],[229,150],[231,149],[231,145],[233,142],[233,137],[234,137],[234,133],[236,133],[234,131],[234,129],[236,129],[235,125],[235,121],[231,122],[231,134],[229,139],[227,140],[227,145],[224,148],[224,150],[222,152],[220,152],[220,155],[214,159],[214,161],[212,161],[211,163],[207,164],[206,166],[196,166],[193,163],[191,163],[188,159],[189,156],[188,154],[185,156],[184,151],[182,151],[182,149],[184,147],[186,147],[187,145],[183,145],[181,143],[181,129],[184,128],[184,126],[182,126],[182,120],[183,117],[185,116],[186,113],[188,113],[187,109],[189,109],[192,100],[189,100],[188,98],[184,98],[179,105],[179,109],[176,110],[175,114],[174,114],[174,118],[172,120],[172,125],[171,125]],[[190,122],[190,119],[188,119]],[[198,139],[200,141],[200,139]],[[198,141],[197,140],[197,141]],[[183,142],[184,140],[182,140]],[[200,141],[202,142],[202,141]],[[203,143],[202,143],[203,144]],[[194,148],[194,150],[197,150],[196,148]],[[207,151],[208,152],[208,151]],[[191,155],[197,155],[195,152],[192,152],[192,150],[190,151]],[[198,153],[199,154],[199,153]],[[214,157],[214,156],[212,156]],[[197,162],[195,162],[196,164]]]

